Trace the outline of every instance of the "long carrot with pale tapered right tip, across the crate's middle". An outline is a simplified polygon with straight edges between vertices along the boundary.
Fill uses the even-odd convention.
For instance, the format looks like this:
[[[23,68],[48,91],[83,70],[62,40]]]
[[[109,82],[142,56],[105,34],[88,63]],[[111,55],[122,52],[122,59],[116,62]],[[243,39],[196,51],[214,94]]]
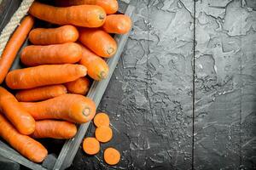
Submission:
[[[86,75],[84,65],[39,65],[10,71],[6,84],[13,89],[37,88],[40,86],[71,82]]]

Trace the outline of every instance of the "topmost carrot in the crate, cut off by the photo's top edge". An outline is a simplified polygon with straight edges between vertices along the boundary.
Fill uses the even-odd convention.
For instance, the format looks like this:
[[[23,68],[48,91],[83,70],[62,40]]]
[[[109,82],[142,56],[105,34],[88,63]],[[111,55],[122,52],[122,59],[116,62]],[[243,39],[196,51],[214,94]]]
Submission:
[[[104,8],[107,14],[114,14],[119,9],[119,3],[117,0],[57,0],[55,3],[58,6],[72,6],[72,5],[82,5],[82,4],[88,4],[88,5],[98,5]]]

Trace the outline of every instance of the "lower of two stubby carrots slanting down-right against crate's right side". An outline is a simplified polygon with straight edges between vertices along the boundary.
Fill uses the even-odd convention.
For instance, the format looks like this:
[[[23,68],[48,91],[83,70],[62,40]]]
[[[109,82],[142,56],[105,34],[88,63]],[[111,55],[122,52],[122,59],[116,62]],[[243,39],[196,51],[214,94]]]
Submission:
[[[108,77],[108,64],[104,59],[97,56],[90,49],[82,47],[82,59],[79,64],[88,69],[88,75],[96,81],[101,81]]]

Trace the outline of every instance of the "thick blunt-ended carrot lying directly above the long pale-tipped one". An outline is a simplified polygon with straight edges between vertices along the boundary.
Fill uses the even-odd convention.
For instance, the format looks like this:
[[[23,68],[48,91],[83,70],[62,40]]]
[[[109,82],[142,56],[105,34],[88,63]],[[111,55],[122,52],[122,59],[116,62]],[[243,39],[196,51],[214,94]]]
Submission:
[[[23,48],[20,59],[24,65],[72,64],[82,57],[82,49],[75,42],[48,46],[30,45]]]

